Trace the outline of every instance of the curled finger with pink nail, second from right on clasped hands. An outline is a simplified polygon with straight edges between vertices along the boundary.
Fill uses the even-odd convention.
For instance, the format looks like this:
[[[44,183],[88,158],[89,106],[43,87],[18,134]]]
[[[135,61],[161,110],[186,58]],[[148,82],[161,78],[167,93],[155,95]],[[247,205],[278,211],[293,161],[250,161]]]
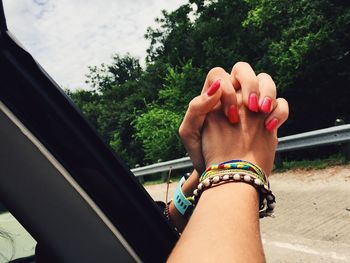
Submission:
[[[260,73],[259,81],[259,109],[261,112],[270,113],[276,107],[276,84],[271,76],[266,73]]]

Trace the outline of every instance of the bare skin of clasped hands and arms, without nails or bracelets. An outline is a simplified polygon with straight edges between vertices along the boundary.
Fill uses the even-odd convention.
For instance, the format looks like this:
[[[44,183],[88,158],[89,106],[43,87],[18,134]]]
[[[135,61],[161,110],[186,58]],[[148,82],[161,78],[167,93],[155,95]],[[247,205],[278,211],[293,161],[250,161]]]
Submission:
[[[210,86],[220,80],[220,88],[209,96]],[[254,94],[258,109],[249,103]],[[262,112],[265,98],[270,109]],[[239,121],[230,123],[230,107],[238,109]],[[257,111],[257,112],[256,112]],[[266,107],[265,107],[266,111]],[[231,159],[243,159],[271,173],[277,146],[277,129],[288,117],[288,103],[276,99],[276,85],[265,73],[255,75],[249,64],[239,62],[231,73],[212,69],[201,95],[188,107],[179,133],[197,171]],[[266,129],[276,119],[273,129]],[[270,127],[271,128],[271,127]],[[185,183],[185,195],[198,184],[198,173]],[[186,191],[185,191],[186,190]],[[190,194],[188,194],[190,195]],[[175,224],[184,228],[183,218],[171,205]],[[206,190],[171,253],[169,262],[264,262],[261,244],[258,195],[250,185],[228,183]]]

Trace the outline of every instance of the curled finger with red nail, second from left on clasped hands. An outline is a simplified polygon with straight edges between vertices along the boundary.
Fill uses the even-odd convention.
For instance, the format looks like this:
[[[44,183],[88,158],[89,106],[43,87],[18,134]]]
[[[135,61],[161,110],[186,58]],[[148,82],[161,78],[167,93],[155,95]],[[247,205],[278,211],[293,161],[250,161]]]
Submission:
[[[210,92],[209,87],[211,87],[213,83],[218,80],[220,80],[221,83],[221,103],[224,113],[227,116],[229,122],[237,123],[239,121],[239,115],[236,91],[232,85],[231,76],[223,68],[216,67],[209,71],[202,89],[202,94],[205,92]]]

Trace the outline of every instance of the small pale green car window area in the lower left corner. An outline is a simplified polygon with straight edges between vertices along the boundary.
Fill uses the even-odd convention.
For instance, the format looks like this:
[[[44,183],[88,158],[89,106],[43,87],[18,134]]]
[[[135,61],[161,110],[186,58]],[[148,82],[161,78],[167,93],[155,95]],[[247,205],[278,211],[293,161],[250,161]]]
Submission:
[[[35,254],[35,239],[9,211],[0,212],[0,263]]]

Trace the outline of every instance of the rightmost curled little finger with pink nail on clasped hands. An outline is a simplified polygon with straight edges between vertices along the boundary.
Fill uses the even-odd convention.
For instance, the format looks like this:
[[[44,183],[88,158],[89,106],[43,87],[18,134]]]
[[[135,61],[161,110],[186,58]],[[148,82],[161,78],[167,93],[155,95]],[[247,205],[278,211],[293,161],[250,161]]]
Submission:
[[[276,100],[276,108],[265,119],[265,128],[269,132],[277,132],[277,129],[288,119],[289,106],[285,99]]]

